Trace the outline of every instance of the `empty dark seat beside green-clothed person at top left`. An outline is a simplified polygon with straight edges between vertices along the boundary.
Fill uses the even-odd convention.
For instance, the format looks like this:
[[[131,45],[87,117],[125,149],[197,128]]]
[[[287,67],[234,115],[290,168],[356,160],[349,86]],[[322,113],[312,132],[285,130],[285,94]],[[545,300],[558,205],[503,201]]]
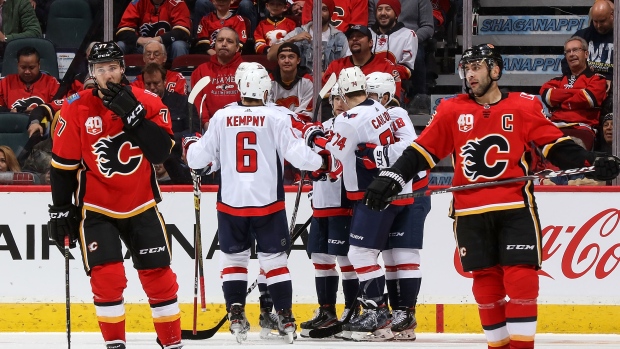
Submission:
[[[58,51],[75,52],[93,22],[90,5],[85,0],[55,0],[47,16],[45,38]]]

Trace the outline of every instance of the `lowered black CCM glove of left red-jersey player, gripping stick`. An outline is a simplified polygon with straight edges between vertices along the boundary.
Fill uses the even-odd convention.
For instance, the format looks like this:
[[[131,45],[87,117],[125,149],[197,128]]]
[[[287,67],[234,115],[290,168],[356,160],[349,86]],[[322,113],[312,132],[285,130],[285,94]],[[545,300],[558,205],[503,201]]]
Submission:
[[[47,223],[47,233],[60,248],[65,247],[65,236],[69,236],[69,248],[75,247],[80,235],[76,210],[74,205],[49,205],[50,220]]]

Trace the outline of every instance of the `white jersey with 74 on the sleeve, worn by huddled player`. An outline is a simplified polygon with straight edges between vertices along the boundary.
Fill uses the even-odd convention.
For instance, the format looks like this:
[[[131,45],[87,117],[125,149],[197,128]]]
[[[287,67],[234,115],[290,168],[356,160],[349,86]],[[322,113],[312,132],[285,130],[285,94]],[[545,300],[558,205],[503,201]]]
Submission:
[[[361,200],[364,197],[364,191],[379,172],[377,169],[368,170],[361,161],[357,161],[355,156],[357,145],[359,143],[394,144],[391,124],[390,114],[385,107],[371,99],[366,99],[336,117],[333,136],[327,149],[342,162],[344,186],[349,199]],[[411,186],[406,185],[402,193],[410,192]],[[408,199],[407,202],[402,203],[411,202],[413,200]],[[393,202],[393,204],[400,203]]]

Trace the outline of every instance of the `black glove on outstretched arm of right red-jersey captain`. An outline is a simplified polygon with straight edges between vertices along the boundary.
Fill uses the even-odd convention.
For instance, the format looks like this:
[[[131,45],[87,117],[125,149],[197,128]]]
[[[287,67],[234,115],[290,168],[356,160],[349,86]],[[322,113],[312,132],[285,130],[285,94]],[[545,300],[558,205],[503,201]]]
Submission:
[[[366,189],[362,202],[374,211],[385,210],[390,202],[388,198],[400,193],[405,186],[405,179],[400,171],[387,168],[375,178]]]

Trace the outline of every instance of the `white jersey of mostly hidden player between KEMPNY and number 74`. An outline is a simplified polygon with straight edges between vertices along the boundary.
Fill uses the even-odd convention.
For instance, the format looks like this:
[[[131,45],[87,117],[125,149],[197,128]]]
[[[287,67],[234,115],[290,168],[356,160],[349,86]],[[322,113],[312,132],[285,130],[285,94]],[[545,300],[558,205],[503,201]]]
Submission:
[[[323,123],[327,137],[331,136],[334,118]],[[342,178],[332,182],[312,182],[312,215],[314,217],[349,216],[351,215],[351,201],[347,199],[342,184]]]

